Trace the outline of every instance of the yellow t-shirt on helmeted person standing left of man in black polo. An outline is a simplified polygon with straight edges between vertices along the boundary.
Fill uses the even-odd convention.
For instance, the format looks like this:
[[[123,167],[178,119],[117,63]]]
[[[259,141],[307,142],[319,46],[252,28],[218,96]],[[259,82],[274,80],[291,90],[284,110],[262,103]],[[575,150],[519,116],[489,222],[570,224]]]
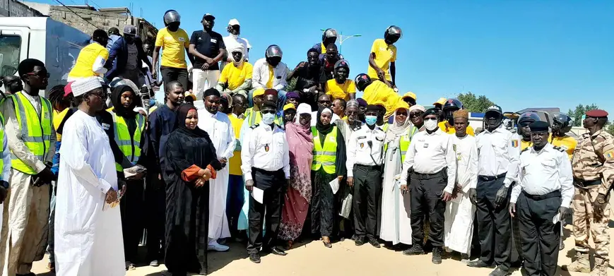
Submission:
[[[189,46],[190,39],[183,29],[171,32],[162,28],[155,37],[155,47],[162,47],[161,66],[187,68],[185,49]]]

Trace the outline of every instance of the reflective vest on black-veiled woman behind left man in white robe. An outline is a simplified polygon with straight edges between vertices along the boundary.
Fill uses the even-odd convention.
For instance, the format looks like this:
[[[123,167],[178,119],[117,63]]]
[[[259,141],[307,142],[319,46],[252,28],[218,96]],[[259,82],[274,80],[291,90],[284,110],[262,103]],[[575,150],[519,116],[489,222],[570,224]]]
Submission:
[[[141,134],[145,131],[145,116],[136,114],[136,129],[131,137],[124,117],[117,116],[113,109],[107,109],[107,111],[113,116],[115,143],[119,146],[119,150],[122,150],[124,156],[132,164],[136,164],[138,158],[141,157]],[[115,169],[117,172],[124,171],[124,167],[119,163],[115,163]]]

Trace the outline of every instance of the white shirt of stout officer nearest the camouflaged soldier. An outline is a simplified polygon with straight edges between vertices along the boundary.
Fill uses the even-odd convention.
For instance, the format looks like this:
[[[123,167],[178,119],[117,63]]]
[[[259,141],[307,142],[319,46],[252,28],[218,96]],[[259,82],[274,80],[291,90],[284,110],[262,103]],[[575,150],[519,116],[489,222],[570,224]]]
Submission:
[[[548,143],[536,152],[527,148],[520,155],[519,183],[512,189],[511,203],[516,203],[521,191],[530,195],[542,196],[553,191],[561,191],[561,206],[569,208],[574,196],[572,163],[567,153],[555,150]]]

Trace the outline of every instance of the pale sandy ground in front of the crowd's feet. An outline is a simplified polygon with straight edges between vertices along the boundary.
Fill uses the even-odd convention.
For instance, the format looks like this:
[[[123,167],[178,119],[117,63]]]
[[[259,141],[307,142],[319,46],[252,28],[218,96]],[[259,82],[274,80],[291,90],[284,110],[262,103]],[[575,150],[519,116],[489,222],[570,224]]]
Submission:
[[[610,235],[613,234],[614,224],[610,222]],[[559,265],[571,263],[573,238],[569,236],[571,226],[565,229],[565,248],[560,251]],[[610,251],[613,251],[610,245]],[[242,244],[230,244],[230,251],[223,253],[209,253],[209,274],[216,276],[268,276],[268,275],[488,275],[488,268],[469,268],[459,260],[447,258],[441,265],[431,263],[431,255],[403,256],[388,248],[374,248],[370,244],[355,246],[353,241],[346,240],[333,244],[333,248],[325,248],[321,241],[312,241],[309,244],[295,245],[288,251],[288,256],[263,256],[262,263],[254,264],[247,258],[247,251]],[[40,276],[52,276],[48,272],[47,260],[35,263],[33,272]],[[141,264],[145,265],[145,264]],[[136,270],[130,270],[127,276],[158,276],[163,275],[164,265],[158,268],[147,265]],[[520,275],[515,271],[512,275]],[[560,271],[558,275],[588,275],[584,273],[569,273]],[[608,275],[614,275],[610,264]]]

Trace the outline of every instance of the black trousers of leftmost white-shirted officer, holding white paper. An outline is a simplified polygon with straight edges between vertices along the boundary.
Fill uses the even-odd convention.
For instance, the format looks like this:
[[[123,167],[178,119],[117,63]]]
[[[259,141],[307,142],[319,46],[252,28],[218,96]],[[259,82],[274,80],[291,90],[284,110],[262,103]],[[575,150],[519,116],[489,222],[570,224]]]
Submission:
[[[254,179],[254,187],[264,190],[264,198],[263,203],[259,203],[253,196],[249,196],[247,253],[250,254],[258,253],[263,246],[265,249],[275,246],[279,222],[281,221],[283,191],[286,185],[283,169],[269,172],[252,167],[252,179]],[[264,217],[265,214],[266,218]],[[266,222],[264,239],[262,236],[262,220]]]

